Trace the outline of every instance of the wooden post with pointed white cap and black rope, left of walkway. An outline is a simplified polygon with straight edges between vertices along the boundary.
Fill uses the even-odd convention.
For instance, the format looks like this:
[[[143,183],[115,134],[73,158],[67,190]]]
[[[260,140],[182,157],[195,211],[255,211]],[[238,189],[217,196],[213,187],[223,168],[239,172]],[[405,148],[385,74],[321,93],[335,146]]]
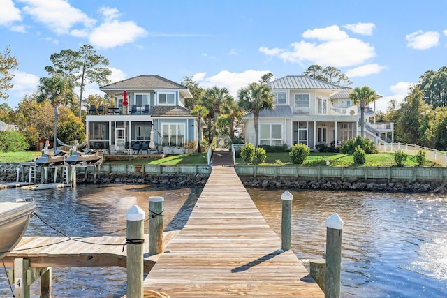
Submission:
[[[142,298],[145,211],[134,205],[126,214],[127,298]]]

